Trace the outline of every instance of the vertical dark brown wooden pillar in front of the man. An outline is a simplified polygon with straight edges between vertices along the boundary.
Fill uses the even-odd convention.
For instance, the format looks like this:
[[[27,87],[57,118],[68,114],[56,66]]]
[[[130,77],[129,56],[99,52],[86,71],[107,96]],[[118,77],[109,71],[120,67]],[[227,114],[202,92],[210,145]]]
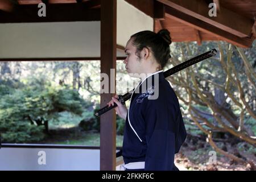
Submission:
[[[110,69],[116,70],[116,50],[117,0],[101,0],[101,73],[106,73],[109,76],[109,92],[101,94],[101,107],[106,106],[106,103],[114,96],[113,93],[110,93],[110,90],[115,92],[115,72],[114,77],[110,77]],[[114,84],[110,85],[110,80]],[[101,115],[101,170],[115,170],[115,117],[114,109]]]

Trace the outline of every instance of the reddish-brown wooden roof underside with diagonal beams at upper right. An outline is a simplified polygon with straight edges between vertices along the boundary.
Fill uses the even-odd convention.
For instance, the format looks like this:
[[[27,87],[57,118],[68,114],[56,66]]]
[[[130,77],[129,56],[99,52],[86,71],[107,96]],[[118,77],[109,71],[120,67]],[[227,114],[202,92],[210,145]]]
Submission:
[[[165,5],[164,19],[155,20],[155,31],[170,30],[174,42],[225,40],[250,47],[255,34],[255,0],[158,0]],[[217,2],[217,17],[208,16],[209,3]]]

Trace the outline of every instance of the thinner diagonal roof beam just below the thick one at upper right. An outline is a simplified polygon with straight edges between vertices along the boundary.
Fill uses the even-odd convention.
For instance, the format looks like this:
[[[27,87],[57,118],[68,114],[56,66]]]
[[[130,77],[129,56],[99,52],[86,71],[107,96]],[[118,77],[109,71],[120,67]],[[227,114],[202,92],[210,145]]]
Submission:
[[[199,31],[207,32],[208,34],[217,36],[222,40],[226,40],[227,42],[240,47],[250,47],[254,40],[254,38],[240,38],[236,35],[230,34],[230,32],[221,30],[220,28],[214,27],[211,24],[193,18],[192,16],[177,11],[172,7],[166,6],[166,16],[176,20],[177,22],[187,24],[188,26],[196,28]]]

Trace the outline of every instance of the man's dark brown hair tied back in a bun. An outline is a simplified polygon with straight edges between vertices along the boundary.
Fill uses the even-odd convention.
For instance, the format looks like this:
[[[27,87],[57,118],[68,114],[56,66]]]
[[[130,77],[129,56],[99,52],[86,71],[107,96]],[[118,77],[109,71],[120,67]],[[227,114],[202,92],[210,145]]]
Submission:
[[[168,30],[162,29],[157,34],[152,31],[141,31],[131,35],[131,38],[134,39],[133,46],[137,47],[136,53],[141,52],[144,47],[150,48],[162,68],[171,58],[169,45],[172,41]]]

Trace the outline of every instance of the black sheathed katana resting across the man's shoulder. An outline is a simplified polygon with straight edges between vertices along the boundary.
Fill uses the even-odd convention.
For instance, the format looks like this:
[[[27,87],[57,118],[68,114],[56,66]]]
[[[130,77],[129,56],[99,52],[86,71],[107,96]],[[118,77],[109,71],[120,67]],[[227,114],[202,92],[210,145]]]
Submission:
[[[212,56],[216,56],[217,55],[217,50],[216,49],[212,49],[208,52],[205,52],[201,55],[198,55],[196,57],[193,57],[192,59],[189,59],[187,61],[184,61],[183,63],[179,64],[179,65],[176,65],[175,67],[171,68],[171,69],[168,69],[167,71],[165,71],[163,73],[164,75],[164,78],[166,77],[169,77],[171,75],[174,75],[175,73],[187,68],[187,67],[190,67],[191,65],[193,64],[196,64],[196,63],[199,63],[200,61],[203,61],[205,59],[208,59],[209,57],[212,57]],[[118,101],[121,102],[121,104],[125,104],[125,102],[127,100],[129,100],[131,98],[131,94],[133,93],[134,89],[131,90],[130,92],[127,92],[126,94],[124,95],[119,95],[118,96]],[[116,107],[117,104],[114,103],[113,106],[105,106],[105,107],[102,107],[100,110],[98,110],[96,113],[95,113],[95,116],[96,117],[100,117],[100,115],[106,113],[107,111],[113,109],[114,107]]]

